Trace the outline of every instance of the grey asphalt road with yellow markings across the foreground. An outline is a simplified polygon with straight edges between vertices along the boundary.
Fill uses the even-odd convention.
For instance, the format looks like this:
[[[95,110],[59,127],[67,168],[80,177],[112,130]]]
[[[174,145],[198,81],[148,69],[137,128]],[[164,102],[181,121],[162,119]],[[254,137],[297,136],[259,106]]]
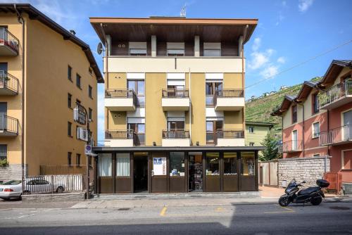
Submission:
[[[0,209],[0,234],[352,234],[352,203]]]

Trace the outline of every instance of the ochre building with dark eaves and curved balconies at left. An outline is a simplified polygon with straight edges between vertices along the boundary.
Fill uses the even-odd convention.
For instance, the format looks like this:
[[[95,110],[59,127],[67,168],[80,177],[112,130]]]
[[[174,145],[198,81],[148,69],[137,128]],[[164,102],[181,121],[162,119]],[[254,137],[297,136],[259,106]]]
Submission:
[[[73,108],[87,108],[96,140],[97,82],[92,51],[74,32],[30,4],[0,4],[0,179],[84,164],[87,131]]]

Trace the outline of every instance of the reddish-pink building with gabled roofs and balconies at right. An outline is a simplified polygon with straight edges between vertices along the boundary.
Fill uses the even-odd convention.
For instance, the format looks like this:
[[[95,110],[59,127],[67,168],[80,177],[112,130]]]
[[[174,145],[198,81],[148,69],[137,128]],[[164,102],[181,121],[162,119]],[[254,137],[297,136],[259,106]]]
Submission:
[[[303,83],[273,115],[283,123],[284,158],[329,158],[331,172],[352,182],[352,63],[332,61],[322,80]]]

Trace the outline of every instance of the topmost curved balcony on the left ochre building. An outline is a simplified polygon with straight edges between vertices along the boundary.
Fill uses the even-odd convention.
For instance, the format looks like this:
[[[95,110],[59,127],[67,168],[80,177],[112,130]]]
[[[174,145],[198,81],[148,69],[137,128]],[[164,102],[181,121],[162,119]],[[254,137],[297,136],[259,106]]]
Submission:
[[[0,27],[0,56],[17,56],[18,44],[18,39],[6,27]]]

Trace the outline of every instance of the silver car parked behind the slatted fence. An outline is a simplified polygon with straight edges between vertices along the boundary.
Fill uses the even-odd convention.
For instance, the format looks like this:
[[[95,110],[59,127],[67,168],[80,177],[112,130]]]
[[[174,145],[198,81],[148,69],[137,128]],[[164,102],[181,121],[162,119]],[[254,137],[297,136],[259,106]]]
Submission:
[[[63,193],[63,191],[65,191],[65,187],[61,182],[52,183],[45,179],[28,179],[25,182],[25,191],[23,193]]]

